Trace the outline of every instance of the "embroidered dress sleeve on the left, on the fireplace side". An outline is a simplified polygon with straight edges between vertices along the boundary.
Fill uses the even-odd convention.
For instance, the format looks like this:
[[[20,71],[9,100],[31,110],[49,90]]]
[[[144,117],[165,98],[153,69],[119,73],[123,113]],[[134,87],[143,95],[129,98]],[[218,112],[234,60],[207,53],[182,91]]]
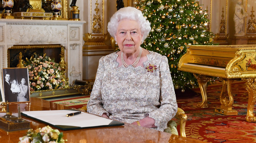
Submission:
[[[109,113],[103,108],[101,97],[101,82],[104,74],[103,57],[99,59],[99,65],[97,69],[96,79],[90,96],[90,101],[87,103],[87,112],[101,116],[103,113]]]

